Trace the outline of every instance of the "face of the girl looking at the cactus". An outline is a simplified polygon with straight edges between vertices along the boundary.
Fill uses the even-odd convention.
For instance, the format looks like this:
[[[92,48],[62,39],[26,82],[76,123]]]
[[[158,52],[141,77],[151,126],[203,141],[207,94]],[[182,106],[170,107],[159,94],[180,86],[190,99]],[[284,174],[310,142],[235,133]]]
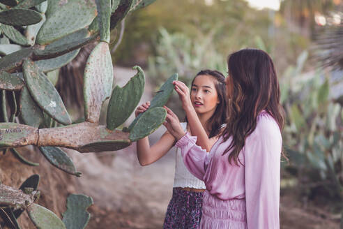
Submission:
[[[197,114],[212,115],[220,103],[215,89],[215,79],[211,75],[198,75],[192,84],[190,100]]]

